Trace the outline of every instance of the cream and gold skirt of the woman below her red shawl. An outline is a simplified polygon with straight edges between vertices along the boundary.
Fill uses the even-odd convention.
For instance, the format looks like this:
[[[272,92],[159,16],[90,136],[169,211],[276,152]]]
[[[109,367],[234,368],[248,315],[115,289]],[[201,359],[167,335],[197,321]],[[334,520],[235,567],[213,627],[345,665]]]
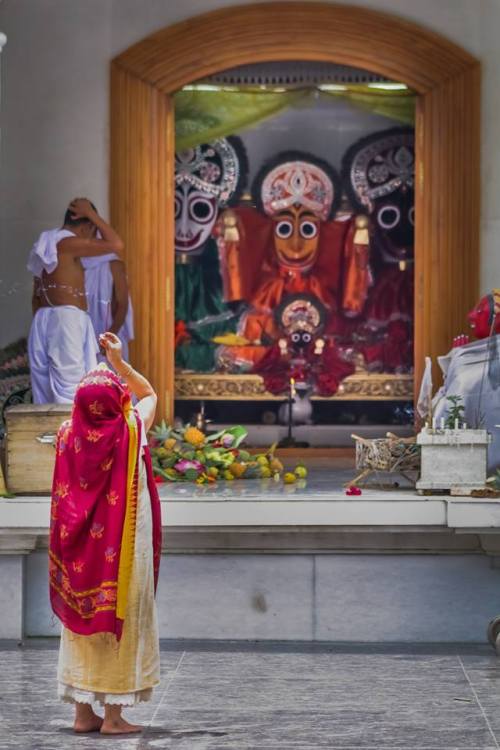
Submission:
[[[135,555],[123,634],[77,635],[62,629],[59,697],[68,703],[133,706],[151,698],[160,681],[154,600],[151,500],[140,461]]]

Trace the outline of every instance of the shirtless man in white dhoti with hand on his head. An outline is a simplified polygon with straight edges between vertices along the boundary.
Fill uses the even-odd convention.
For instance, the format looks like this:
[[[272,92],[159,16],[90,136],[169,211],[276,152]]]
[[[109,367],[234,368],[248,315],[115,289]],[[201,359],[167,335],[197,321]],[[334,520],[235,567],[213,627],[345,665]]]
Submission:
[[[35,242],[28,261],[34,276],[28,355],[35,404],[71,403],[82,377],[96,367],[99,346],[87,312],[82,258],[120,256],[123,247],[86,198],[71,201],[63,227],[42,232]]]

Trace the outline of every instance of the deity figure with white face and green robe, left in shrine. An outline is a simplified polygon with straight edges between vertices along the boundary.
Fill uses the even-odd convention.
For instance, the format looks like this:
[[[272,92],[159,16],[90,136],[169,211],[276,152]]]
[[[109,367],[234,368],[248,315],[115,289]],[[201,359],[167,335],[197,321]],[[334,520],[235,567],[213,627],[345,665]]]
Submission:
[[[239,138],[220,138],[175,157],[176,366],[214,369],[212,337],[234,331],[237,317],[223,299],[214,227],[221,208],[244,187],[247,161]]]

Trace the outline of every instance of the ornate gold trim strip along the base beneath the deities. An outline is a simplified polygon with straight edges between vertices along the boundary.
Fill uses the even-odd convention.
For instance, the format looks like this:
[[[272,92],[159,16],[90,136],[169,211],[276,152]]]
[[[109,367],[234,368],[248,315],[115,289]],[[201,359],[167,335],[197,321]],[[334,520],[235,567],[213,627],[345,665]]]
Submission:
[[[283,401],[264,388],[260,375],[200,375],[176,373],[175,398],[178,401]],[[335,396],[314,401],[411,401],[412,375],[356,373],[346,378]]]

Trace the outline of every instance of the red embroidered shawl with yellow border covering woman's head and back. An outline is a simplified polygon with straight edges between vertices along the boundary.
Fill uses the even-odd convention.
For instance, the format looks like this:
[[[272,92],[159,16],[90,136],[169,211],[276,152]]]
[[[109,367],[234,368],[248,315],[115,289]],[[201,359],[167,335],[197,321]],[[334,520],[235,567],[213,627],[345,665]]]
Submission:
[[[78,386],[57,437],[49,544],[50,601],[74,633],[120,639],[134,560],[141,422],[130,392],[107,368]],[[155,586],[161,509],[144,448],[153,516]]]

